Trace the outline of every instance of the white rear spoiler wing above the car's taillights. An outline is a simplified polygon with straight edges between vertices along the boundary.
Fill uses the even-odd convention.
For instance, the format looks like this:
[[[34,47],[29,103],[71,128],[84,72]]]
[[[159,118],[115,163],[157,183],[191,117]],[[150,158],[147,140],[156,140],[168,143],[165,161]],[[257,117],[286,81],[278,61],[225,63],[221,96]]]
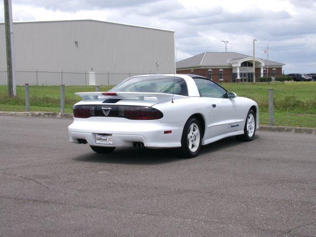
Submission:
[[[152,93],[152,92],[78,92],[76,95],[81,96],[83,100],[86,99],[98,99],[100,97],[111,97],[111,98],[130,98],[138,100],[164,100],[172,98],[172,94],[167,93]],[[184,95],[173,95],[174,99],[187,98]]]

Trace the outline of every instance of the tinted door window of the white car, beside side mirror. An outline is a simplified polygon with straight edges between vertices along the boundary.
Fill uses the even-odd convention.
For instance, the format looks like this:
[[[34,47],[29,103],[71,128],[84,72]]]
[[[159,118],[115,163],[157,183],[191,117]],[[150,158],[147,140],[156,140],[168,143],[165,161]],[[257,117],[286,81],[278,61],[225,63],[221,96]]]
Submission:
[[[227,98],[227,92],[218,84],[206,79],[194,79],[201,97]]]

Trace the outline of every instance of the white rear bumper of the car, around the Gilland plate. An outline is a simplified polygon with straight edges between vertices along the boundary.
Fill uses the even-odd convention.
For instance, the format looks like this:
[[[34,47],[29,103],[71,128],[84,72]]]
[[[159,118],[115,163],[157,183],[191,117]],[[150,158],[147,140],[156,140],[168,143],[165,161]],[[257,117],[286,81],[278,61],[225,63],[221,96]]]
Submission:
[[[148,148],[181,147],[185,122],[162,123],[159,120],[129,120],[126,118],[74,118],[69,125],[69,137],[73,143],[85,139],[90,146],[132,147],[141,142]],[[170,134],[164,131],[172,130]],[[112,134],[113,145],[95,143],[96,133]]]

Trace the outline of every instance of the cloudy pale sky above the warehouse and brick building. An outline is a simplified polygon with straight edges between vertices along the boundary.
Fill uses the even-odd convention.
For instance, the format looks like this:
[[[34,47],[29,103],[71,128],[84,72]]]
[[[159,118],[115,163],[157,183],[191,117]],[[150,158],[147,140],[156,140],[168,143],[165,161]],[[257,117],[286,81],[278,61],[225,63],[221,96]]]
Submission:
[[[0,21],[3,21],[3,1]],[[95,19],[176,31],[177,61],[228,51],[316,73],[316,0],[12,0],[13,20]]]

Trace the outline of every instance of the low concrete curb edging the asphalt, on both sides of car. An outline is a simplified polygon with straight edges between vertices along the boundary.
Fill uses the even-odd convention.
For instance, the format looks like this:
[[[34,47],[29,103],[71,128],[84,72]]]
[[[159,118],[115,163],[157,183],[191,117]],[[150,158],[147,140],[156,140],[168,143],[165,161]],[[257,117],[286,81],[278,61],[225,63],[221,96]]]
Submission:
[[[73,114],[62,114],[54,112],[6,112],[0,111],[0,116],[24,116],[24,117],[40,117],[40,118],[73,118]],[[316,128],[309,127],[283,127],[283,126],[267,126],[260,125],[260,131],[271,131],[271,132],[290,132],[290,133],[306,133],[316,134]]]

